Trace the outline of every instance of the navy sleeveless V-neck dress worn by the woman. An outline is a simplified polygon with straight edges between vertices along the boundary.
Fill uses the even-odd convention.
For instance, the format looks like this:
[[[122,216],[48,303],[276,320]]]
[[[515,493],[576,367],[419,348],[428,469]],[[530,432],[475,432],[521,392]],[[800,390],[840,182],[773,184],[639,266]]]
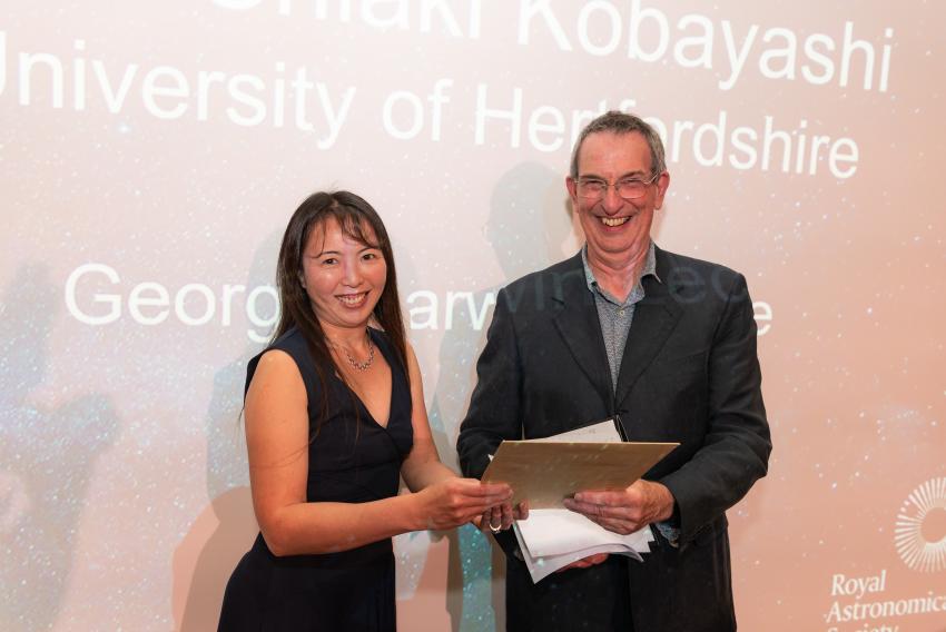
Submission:
[[[414,441],[411,392],[404,367],[384,333],[368,329],[391,366],[391,415],[386,427],[342,379],[325,367],[328,412],[319,424],[322,388],[312,355],[297,329],[268,349],[296,362],[308,396],[306,501],[364,503],[397,494],[401,463]],[[247,366],[247,388],[259,357]],[[394,553],[391,539],[351,551],[276,557],[262,535],[227,583],[219,632],[395,630]]]

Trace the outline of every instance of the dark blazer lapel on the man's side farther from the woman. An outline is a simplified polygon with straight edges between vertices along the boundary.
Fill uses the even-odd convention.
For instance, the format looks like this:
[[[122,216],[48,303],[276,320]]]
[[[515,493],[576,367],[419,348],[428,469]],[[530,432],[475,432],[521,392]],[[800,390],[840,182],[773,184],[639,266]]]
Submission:
[[[642,280],[644,298],[634,307],[634,319],[628,333],[621,371],[618,374],[618,404],[623,403],[630,395],[638,378],[667,343],[682,315],[679,303],[671,296],[673,290],[668,287],[668,280],[672,279],[673,275],[666,269],[667,266],[660,265],[662,255],[663,253],[658,250],[657,274],[664,283],[652,276]]]

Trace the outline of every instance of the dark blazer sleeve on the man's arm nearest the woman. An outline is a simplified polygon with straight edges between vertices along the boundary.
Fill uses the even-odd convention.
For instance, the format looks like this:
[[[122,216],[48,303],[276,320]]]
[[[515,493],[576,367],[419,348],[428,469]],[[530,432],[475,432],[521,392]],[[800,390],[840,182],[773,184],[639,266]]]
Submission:
[[[486,346],[476,363],[476,387],[456,440],[464,476],[480,478],[503,440],[522,438],[521,399],[522,365],[513,310],[503,288],[496,296]],[[513,554],[516,543],[512,533],[500,533],[496,541],[509,555]]]

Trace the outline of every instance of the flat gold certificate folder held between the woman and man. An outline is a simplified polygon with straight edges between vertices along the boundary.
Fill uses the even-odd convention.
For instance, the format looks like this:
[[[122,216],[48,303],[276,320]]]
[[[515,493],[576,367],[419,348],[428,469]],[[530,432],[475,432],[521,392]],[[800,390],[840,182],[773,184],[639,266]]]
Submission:
[[[623,490],[679,443],[572,443],[504,441],[483,473],[484,483],[509,483],[513,505],[562,506],[587,490]]]

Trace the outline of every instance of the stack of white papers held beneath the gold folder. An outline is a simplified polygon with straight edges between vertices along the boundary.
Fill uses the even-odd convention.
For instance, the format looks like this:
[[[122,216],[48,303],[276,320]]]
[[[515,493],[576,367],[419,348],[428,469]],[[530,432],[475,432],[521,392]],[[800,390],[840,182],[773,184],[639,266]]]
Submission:
[[[589,555],[618,553],[641,561],[650,553],[649,526],[628,535],[610,532],[569,510],[530,510],[529,519],[513,525],[519,547],[538,583],[559,569]]]

